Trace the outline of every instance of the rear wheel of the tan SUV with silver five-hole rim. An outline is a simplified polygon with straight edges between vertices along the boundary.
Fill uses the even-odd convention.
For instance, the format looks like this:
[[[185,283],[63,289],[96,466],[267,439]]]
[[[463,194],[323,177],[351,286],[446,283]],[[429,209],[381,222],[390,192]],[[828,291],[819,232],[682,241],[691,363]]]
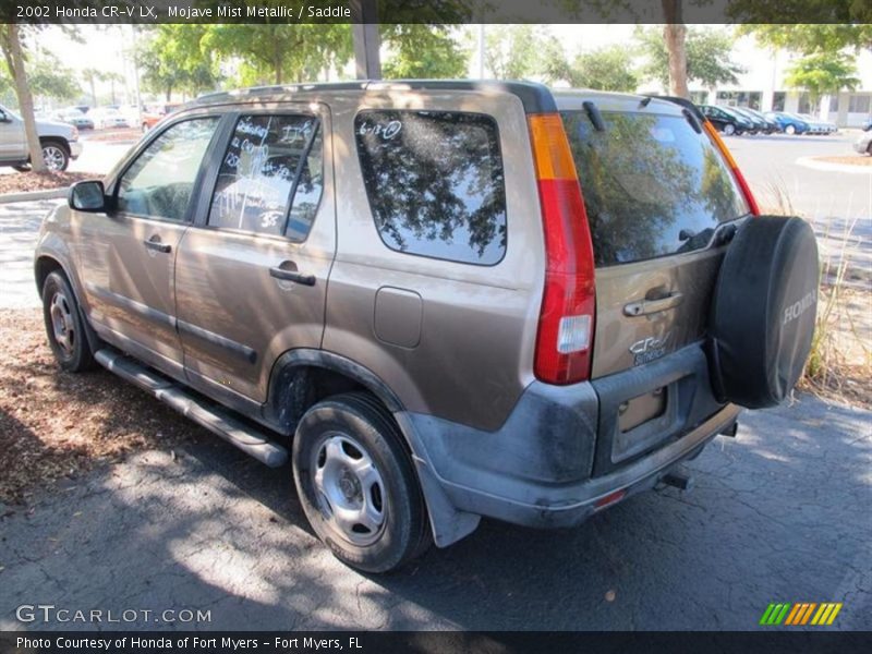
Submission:
[[[388,572],[428,548],[427,511],[411,458],[371,396],[338,395],[312,407],[296,427],[292,467],[306,518],[339,560]]]

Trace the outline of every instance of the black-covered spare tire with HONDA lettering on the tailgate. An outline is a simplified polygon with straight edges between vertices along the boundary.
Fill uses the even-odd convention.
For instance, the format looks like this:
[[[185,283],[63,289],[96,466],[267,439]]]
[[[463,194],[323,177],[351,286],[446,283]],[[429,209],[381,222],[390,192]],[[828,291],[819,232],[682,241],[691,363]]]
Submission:
[[[712,300],[715,392],[749,409],[792,390],[811,351],[818,312],[818,242],[800,218],[760,216],[727,249]]]

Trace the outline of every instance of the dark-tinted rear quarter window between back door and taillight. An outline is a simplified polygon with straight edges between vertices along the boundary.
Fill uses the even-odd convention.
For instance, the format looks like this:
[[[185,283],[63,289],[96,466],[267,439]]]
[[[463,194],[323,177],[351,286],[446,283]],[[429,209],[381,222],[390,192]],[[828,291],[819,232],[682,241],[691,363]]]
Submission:
[[[376,228],[400,252],[493,265],[506,252],[506,190],[493,118],[363,111],[358,154]]]

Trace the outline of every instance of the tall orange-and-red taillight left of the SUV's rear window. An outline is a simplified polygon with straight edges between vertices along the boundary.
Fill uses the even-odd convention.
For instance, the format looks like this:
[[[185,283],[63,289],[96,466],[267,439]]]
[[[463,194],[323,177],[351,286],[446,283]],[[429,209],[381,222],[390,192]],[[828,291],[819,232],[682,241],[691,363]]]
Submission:
[[[573,384],[591,374],[596,310],[591,230],[560,114],[533,114],[529,124],[547,262],[534,372],[548,384]]]

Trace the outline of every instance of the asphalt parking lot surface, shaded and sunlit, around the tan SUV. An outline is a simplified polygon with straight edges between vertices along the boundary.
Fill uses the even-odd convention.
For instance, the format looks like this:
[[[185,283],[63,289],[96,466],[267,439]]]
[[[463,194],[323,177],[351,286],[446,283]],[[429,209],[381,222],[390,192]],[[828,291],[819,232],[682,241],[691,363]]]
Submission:
[[[755,190],[779,175],[800,210],[832,207],[820,215],[869,227],[872,175],[795,164],[843,154],[849,138],[729,145]],[[50,206],[0,205],[0,308],[37,305],[32,247]],[[852,246],[863,252],[869,238]],[[210,611],[113,628],[746,630],[771,602],[829,601],[844,603],[833,629],[872,629],[872,413],[800,395],[747,412],[736,439],[715,439],[687,468],[689,493],[637,496],[569,531],[484,521],[376,577],[319,545],[288,468],[266,469],[204,432],[13,507],[0,520],[0,629],[95,627],[15,619],[22,604],[53,604]]]

